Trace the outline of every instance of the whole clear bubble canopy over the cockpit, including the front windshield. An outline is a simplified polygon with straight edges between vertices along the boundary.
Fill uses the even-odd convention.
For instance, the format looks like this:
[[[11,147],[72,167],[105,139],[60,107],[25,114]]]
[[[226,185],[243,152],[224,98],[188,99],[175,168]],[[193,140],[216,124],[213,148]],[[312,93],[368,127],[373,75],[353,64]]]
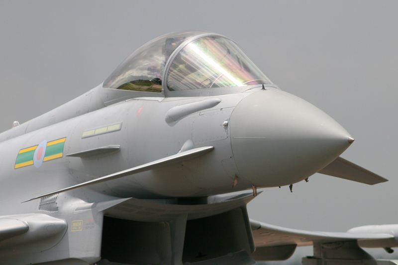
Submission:
[[[162,92],[272,84],[233,41],[203,31],[174,32],[144,44],[104,88]]]

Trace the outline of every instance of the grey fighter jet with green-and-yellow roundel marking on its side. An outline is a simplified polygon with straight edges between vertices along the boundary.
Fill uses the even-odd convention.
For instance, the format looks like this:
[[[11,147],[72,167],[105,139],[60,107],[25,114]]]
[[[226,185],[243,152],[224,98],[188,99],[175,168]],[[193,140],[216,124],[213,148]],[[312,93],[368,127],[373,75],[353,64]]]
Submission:
[[[340,157],[353,141],[234,41],[160,36],[98,87],[0,134],[0,264],[248,265],[309,244],[394,247],[380,231],[319,235],[248,217],[257,189],[315,173],[387,181]]]

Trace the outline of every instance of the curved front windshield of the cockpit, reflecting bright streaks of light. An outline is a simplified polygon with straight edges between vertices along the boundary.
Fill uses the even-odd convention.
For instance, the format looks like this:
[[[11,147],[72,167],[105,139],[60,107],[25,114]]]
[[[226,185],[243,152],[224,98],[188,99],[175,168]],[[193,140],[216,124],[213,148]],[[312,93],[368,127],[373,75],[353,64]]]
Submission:
[[[272,84],[231,40],[219,36],[186,45],[167,74],[170,91]]]

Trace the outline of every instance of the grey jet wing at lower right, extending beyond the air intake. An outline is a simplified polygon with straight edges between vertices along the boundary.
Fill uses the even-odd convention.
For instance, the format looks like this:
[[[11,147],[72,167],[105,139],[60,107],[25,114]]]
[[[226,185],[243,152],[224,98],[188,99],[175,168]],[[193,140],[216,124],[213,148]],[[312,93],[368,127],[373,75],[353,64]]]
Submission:
[[[351,229],[350,233],[316,232],[283,228],[250,220],[256,251],[251,255],[256,261],[280,261],[289,259],[296,247],[314,246],[325,249],[347,249],[347,253],[358,251],[359,246],[368,248],[398,247],[394,231],[378,230],[376,233],[362,233]],[[396,225],[397,226],[397,225]],[[354,232],[355,231],[355,232]],[[370,230],[366,230],[370,231]]]

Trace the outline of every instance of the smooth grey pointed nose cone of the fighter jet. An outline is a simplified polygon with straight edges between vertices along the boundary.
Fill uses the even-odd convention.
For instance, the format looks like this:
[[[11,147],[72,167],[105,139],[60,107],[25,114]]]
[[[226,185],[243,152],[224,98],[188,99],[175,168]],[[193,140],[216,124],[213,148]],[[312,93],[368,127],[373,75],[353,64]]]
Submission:
[[[289,185],[318,172],[353,142],[326,113],[281,90],[254,92],[230,118],[241,177],[257,187]]]

